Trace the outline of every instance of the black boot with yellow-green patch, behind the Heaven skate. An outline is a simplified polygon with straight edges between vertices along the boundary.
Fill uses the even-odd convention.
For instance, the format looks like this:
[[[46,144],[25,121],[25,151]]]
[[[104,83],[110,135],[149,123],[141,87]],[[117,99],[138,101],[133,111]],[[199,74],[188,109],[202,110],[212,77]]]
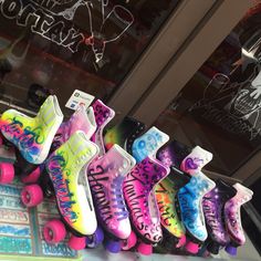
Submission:
[[[145,124],[132,117],[125,117],[118,125],[106,130],[104,144],[109,149],[114,144],[132,154],[134,140],[144,133]]]

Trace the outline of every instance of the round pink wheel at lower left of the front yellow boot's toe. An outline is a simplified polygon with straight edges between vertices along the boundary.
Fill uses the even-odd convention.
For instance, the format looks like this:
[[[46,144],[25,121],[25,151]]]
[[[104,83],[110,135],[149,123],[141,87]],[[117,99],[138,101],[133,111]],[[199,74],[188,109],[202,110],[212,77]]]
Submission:
[[[64,240],[65,236],[65,227],[59,219],[53,219],[43,227],[43,237],[48,243],[59,243]]]

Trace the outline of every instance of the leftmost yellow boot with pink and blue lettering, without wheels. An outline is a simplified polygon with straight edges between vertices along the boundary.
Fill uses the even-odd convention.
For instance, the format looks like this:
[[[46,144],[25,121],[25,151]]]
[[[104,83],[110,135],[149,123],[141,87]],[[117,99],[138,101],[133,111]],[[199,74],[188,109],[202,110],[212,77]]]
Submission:
[[[15,109],[6,111],[0,119],[2,135],[31,164],[42,164],[63,121],[56,96],[49,96],[35,117]]]

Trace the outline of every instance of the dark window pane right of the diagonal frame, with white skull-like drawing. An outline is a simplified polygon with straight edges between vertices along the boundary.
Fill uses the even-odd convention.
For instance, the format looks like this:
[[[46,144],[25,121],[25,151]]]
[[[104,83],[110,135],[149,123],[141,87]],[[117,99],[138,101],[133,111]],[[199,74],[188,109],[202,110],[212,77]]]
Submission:
[[[185,144],[212,152],[213,160],[206,168],[231,176],[261,147],[260,61],[261,3],[255,1],[156,126]]]

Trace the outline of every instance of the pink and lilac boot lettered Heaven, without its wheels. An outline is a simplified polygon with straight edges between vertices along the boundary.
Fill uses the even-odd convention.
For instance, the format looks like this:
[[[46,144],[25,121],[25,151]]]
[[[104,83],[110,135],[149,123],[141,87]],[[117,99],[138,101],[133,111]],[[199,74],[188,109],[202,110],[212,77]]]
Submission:
[[[118,239],[130,234],[128,211],[123,196],[123,180],[135,165],[135,159],[118,145],[88,167],[92,189],[100,223]]]

